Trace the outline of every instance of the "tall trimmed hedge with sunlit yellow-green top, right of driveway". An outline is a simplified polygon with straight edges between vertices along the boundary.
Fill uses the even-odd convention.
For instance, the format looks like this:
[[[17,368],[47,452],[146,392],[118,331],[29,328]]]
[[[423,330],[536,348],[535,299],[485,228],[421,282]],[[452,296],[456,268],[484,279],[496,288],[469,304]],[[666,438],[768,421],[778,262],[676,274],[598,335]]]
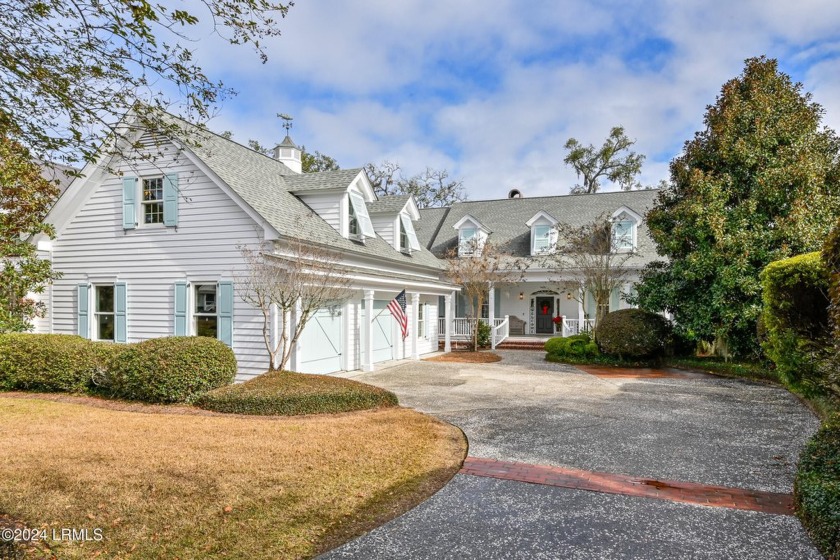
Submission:
[[[830,346],[829,274],[819,252],[782,259],[761,272],[762,348],[787,383],[820,387]]]

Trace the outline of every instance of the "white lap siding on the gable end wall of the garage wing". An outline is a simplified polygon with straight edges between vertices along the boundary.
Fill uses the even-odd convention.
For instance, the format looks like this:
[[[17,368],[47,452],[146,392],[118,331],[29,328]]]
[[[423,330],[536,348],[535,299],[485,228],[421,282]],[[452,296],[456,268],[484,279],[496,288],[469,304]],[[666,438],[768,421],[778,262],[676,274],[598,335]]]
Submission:
[[[172,145],[156,165],[140,163],[121,170],[130,176],[178,173],[177,228],[123,230],[122,180],[110,176],[91,194],[53,245],[53,266],[63,277],[53,287],[53,332],[75,333],[76,286],[81,282],[127,283],[128,341],[174,334],[174,283],[177,280],[232,280],[241,269],[240,246],[262,241],[259,227],[231,198]],[[234,300],[233,349],[240,378],[267,369],[262,318]],[[49,323],[39,321],[39,332]]]

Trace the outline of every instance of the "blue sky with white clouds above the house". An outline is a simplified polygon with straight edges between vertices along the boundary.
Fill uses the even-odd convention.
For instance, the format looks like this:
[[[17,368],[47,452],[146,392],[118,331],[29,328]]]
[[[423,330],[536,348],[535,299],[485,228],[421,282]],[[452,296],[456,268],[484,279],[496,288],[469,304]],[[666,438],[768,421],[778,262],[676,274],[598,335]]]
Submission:
[[[762,54],[840,130],[836,0],[299,0],[281,26],[265,65],[247,47],[196,46],[239,91],[211,129],[271,144],[288,113],[294,140],[342,167],[446,168],[471,199],[568,193],[566,140],[600,145],[615,125],[654,185]]]

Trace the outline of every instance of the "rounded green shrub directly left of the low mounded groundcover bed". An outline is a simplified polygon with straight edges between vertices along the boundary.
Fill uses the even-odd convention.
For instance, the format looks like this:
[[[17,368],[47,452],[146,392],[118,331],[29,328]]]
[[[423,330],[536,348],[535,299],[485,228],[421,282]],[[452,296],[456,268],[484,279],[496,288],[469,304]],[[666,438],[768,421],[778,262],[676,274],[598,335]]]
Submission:
[[[116,397],[151,403],[190,402],[228,385],[236,358],[223,342],[202,336],[153,338],[117,355],[104,383]]]

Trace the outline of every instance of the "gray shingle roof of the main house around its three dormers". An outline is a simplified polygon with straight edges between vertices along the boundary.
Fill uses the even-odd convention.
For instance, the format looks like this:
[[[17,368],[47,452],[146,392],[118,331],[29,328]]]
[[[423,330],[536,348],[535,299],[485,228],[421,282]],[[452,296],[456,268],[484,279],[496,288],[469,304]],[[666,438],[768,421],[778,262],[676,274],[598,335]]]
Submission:
[[[531,253],[531,230],[525,222],[540,210],[548,212],[561,224],[577,227],[591,223],[599,216],[609,216],[621,207],[644,216],[658,192],[651,189],[458,202],[447,211],[440,208],[421,210],[417,235],[435,255],[443,256],[457,246],[458,232],[453,225],[469,214],[492,232],[488,238],[490,242],[505,252],[525,257]],[[656,259],[656,248],[644,222],[637,230],[637,250],[638,255],[628,261],[628,266],[642,266]]]

